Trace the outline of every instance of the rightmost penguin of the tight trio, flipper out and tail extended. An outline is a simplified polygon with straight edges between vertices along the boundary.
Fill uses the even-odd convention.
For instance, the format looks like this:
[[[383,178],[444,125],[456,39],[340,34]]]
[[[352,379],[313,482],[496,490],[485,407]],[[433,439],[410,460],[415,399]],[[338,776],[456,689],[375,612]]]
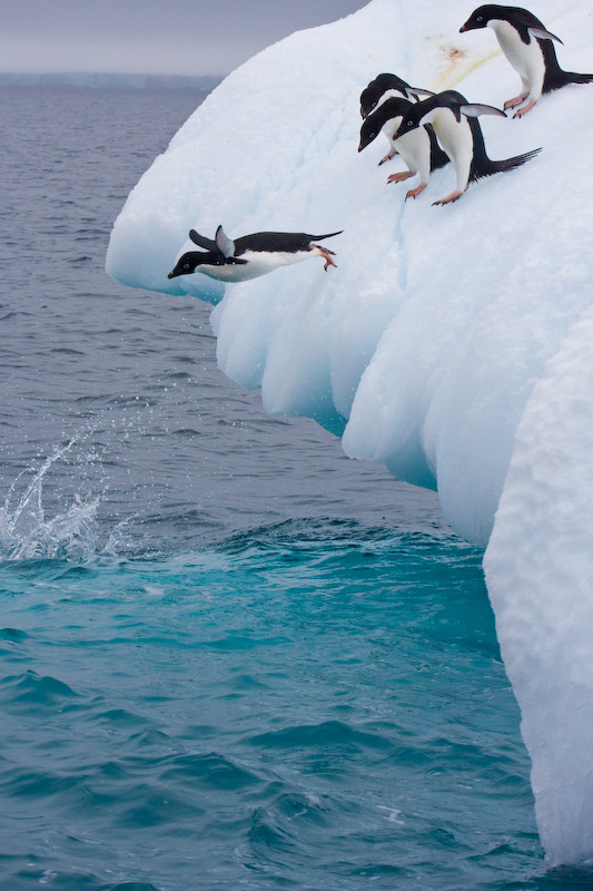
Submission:
[[[399,139],[424,124],[432,124],[442,147],[453,161],[457,175],[457,188],[434,204],[448,204],[461,198],[470,183],[486,176],[513,170],[533,158],[540,148],[505,160],[491,160],[486,155],[484,136],[477,121],[478,115],[506,117],[500,108],[491,105],[468,102],[461,92],[446,90],[411,105],[394,138]]]

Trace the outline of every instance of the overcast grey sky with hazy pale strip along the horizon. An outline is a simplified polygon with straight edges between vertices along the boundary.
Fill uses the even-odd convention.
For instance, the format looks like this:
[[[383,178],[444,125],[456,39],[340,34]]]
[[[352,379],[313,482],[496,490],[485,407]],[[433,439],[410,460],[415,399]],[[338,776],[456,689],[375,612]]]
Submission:
[[[0,0],[0,71],[224,75],[368,0]]]

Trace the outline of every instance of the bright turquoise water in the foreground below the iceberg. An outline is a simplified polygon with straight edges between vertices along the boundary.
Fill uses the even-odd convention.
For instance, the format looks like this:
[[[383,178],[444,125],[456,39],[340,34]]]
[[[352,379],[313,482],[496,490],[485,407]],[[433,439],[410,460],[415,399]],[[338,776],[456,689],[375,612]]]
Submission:
[[[286,521],[0,580],[14,888],[470,889],[537,866],[474,549]]]

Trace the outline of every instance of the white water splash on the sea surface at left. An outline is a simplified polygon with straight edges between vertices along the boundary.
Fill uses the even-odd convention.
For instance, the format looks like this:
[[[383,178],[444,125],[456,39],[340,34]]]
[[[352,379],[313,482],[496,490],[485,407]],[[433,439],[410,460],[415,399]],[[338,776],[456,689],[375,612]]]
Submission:
[[[20,473],[9,489],[3,507],[0,507],[0,559],[65,559],[71,562],[88,562],[97,555],[97,508],[100,498],[73,496],[65,512],[46,518],[43,510],[43,481],[49,470],[61,460],[78,440],[55,449],[20,496]]]

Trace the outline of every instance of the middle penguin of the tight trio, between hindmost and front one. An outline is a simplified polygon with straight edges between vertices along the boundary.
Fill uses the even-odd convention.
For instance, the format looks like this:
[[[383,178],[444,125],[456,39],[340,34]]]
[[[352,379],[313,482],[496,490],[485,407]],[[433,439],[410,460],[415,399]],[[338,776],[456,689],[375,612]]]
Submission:
[[[408,102],[407,99],[393,97],[386,99],[363,121],[358,146],[358,151],[362,151],[377,138],[379,133],[385,134],[392,147],[399,153],[407,165],[407,172],[392,174],[387,178],[387,183],[403,183],[415,174],[421,176],[419,185],[407,192],[406,200],[416,198],[426,188],[432,170],[437,170],[448,164],[448,157],[436,141],[436,136],[429,125],[417,127],[394,140],[394,135],[413,107],[414,104]]]

